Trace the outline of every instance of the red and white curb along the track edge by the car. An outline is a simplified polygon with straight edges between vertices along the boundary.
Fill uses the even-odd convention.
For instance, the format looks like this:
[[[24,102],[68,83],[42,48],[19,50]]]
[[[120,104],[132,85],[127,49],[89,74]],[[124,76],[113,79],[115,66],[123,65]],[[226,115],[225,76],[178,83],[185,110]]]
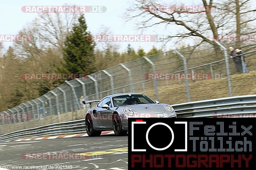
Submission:
[[[103,131],[101,135],[115,134],[114,131]],[[60,135],[51,137],[37,137],[37,138],[27,138],[27,139],[17,139],[16,141],[27,141],[27,140],[41,140],[41,139],[56,139],[56,138],[69,138],[69,137],[87,137],[87,133],[75,134],[75,135]]]

